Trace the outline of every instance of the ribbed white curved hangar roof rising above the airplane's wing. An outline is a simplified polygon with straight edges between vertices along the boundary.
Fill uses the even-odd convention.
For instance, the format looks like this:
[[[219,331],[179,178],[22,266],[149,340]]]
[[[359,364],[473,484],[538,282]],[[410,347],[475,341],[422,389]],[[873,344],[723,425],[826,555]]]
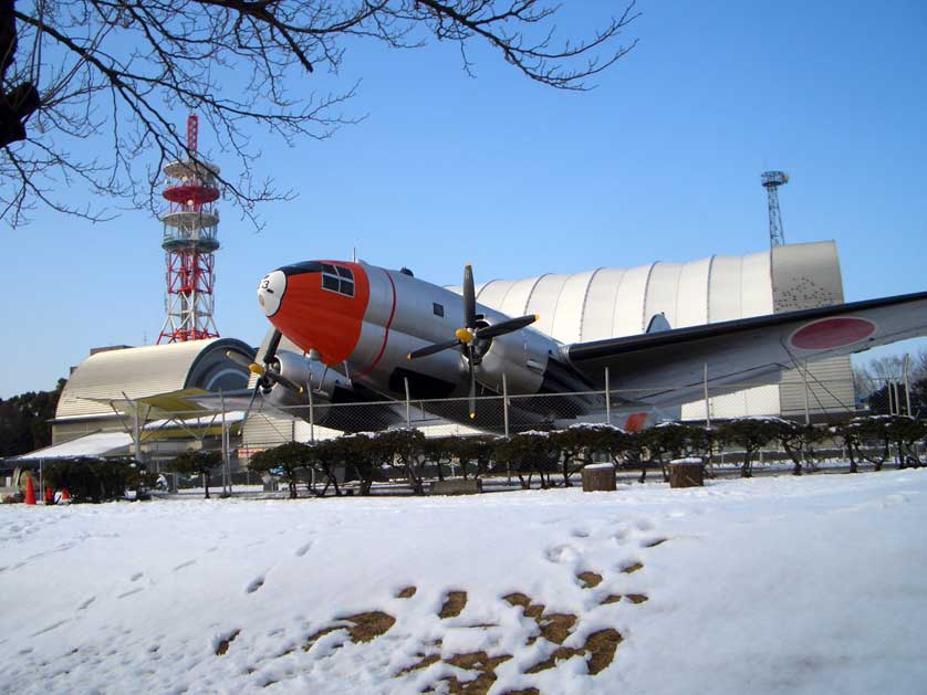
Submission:
[[[665,314],[673,328],[684,328],[784,310],[779,295],[811,289],[793,277],[796,274],[823,276],[823,284],[839,288],[834,242],[789,244],[743,256],[712,255],[689,263],[493,280],[477,287],[477,301],[509,316],[539,314],[534,325],[539,330],[562,343],[585,343],[644,333],[655,314]],[[839,289],[831,294],[808,299],[816,306],[843,301]]]

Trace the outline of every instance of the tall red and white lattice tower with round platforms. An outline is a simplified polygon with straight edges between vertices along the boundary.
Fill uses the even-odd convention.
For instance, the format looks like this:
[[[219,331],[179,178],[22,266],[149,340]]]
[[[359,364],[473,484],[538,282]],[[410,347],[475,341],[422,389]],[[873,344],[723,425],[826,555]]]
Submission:
[[[219,167],[196,156],[198,119],[187,119],[189,159],[164,168],[169,207],[162,218],[167,260],[167,296],[158,343],[217,338],[212,318],[213,257],[219,249]]]

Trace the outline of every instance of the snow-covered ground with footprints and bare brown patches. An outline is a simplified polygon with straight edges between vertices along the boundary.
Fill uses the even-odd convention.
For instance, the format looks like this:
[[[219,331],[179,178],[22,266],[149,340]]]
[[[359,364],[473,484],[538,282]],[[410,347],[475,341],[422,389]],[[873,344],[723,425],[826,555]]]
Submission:
[[[3,506],[0,691],[923,693],[925,493]]]

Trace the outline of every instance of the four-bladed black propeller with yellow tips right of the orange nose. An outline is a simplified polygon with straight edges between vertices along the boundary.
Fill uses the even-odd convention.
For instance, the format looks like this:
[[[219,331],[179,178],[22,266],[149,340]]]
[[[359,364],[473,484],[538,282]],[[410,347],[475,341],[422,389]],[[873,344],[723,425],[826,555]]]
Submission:
[[[477,314],[477,292],[473,286],[473,268],[468,263],[463,266],[463,326],[454,331],[452,340],[445,340],[444,343],[435,343],[426,345],[424,348],[413,350],[408,354],[408,359],[419,359],[428,357],[444,350],[456,349],[467,357],[467,365],[470,370],[470,418],[476,418],[476,400],[477,400],[477,376],[476,367],[482,358],[482,352],[488,348],[487,343],[492,338],[504,336],[515,330],[530,326],[538,316],[534,314],[528,316],[519,316],[518,318],[509,318],[498,324],[480,326],[482,318]],[[478,349],[479,348],[479,349]]]

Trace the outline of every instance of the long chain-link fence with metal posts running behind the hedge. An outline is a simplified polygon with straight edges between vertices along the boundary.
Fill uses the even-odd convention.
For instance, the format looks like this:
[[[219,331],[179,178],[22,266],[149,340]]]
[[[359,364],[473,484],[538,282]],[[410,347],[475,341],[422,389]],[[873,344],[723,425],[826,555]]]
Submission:
[[[685,387],[692,393],[691,385]],[[189,447],[222,450],[231,468],[243,468],[248,459],[285,442],[309,442],[345,432],[417,429],[427,438],[493,434],[564,429],[576,423],[612,424],[637,431],[660,422],[712,424],[743,417],[781,417],[796,422],[839,422],[861,413],[917,414],[918,393],[904,382],[886,380],[867,398],[857,398],[852,379],[809,378],[798,370],[778,385],[728,383],[723,388],[701,385],[701,399],[683,404],[674,391],[611,389],[571,393],[478,394],[473,417],[469,399],[415,399],[331,403],[321,396],[311,404],[279,408],[256,399],[246,412],[240,401],[225,401],[225,409],[198,409],[165,413],[152,410],[142,422],[124,418],[132,435],[129,455],[153,463],[165,462]],[[223,402],[221,399],[219,402]],[[656,404],[654,404],[656,403]],[[157,418],[157,419],[156,419]],[[125,424],[125,422],[123,424]],[[840,457],[834,444],[833,455]],[[735,460],[737,452],[726,452]],[[783,459],[770,449],[764,460]]]

